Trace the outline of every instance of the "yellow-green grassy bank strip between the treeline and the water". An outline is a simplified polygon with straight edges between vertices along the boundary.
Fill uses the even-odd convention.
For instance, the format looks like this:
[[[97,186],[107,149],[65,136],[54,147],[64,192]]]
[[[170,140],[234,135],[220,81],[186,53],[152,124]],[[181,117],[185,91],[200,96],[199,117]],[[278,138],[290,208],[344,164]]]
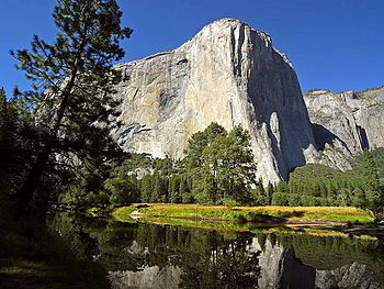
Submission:
[[[145,216],[190,218],[195,220],[252,221],[260,223],[347,223],[371,222],[363,210],[351,207],[225,207],[201,204],[151,203],[147,207],[133,204],[113,212],[118,221],[129,220],[133,211]]]

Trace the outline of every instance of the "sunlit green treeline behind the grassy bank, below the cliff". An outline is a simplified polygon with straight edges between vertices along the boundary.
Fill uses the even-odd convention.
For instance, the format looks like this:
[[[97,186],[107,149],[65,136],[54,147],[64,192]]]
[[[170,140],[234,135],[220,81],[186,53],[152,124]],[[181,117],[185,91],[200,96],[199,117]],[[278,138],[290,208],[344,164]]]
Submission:
[[[377,203],[374,210],[380,214],[384,148],[364,151],[352,163],[353,168],[347,171],[307,164],[292,171],[289,181],[266,184],[255,179],[248,133],[241,126],[227,133],[212,123],[191,137],[183,159],[131,155],[112,166],[101,192],[89,194],[86,190],[89,180],[82,179],[82,185],[71,186],[61,201],[94,207],[166,202],[366,208]]]

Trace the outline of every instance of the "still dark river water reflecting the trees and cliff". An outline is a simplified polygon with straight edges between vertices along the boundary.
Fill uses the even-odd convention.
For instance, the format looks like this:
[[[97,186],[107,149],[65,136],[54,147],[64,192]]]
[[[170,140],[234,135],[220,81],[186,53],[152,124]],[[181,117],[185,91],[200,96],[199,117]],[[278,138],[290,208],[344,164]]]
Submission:
[[[144,222],[49,220],[113,288],[384,288],[384,245],[324,232],[223,232]]]

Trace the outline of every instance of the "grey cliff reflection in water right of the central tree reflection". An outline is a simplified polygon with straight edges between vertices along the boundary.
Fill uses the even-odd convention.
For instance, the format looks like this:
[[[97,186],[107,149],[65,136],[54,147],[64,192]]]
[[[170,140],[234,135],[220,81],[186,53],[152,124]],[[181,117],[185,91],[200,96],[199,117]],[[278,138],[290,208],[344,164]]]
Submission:
[[[261,249],[260,244],[258,240],[255,238],[253,249],[259,248]],[[259,287],[262,289],[383,288],[381,281],[374,281],[372,279],[373,277],[371,277],[368,266],[359,264],[358,262],[332,269],[321,270],[308,266],[297,258],[293,246],[283,247],[282,245],[272,245],[272,243],[267,240],[262,249],[259,259],[261,277],[258,282]],[[313,248],[308,246],[307,249],[310,251]],[[337,253],[335,254],[335,252],[330,254],[334,254],[335,258],[340,257]],[[321,259],[319,259],[319,263],[321,263]],[[331,267],[332,264],[328,264],[328,266]]]

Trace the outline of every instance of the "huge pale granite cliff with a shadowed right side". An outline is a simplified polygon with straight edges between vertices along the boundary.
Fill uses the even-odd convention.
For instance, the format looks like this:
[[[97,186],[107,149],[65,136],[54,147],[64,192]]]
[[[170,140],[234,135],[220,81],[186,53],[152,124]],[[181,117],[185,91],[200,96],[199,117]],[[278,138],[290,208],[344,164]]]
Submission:
[[[250,132],[257,177],[286,179],[317,152],[296,74],[268,34],[234,19],[179,48],[116,66],[124,75],[120,129],[128,151],[183,157],[189,137],[217,122]]]

